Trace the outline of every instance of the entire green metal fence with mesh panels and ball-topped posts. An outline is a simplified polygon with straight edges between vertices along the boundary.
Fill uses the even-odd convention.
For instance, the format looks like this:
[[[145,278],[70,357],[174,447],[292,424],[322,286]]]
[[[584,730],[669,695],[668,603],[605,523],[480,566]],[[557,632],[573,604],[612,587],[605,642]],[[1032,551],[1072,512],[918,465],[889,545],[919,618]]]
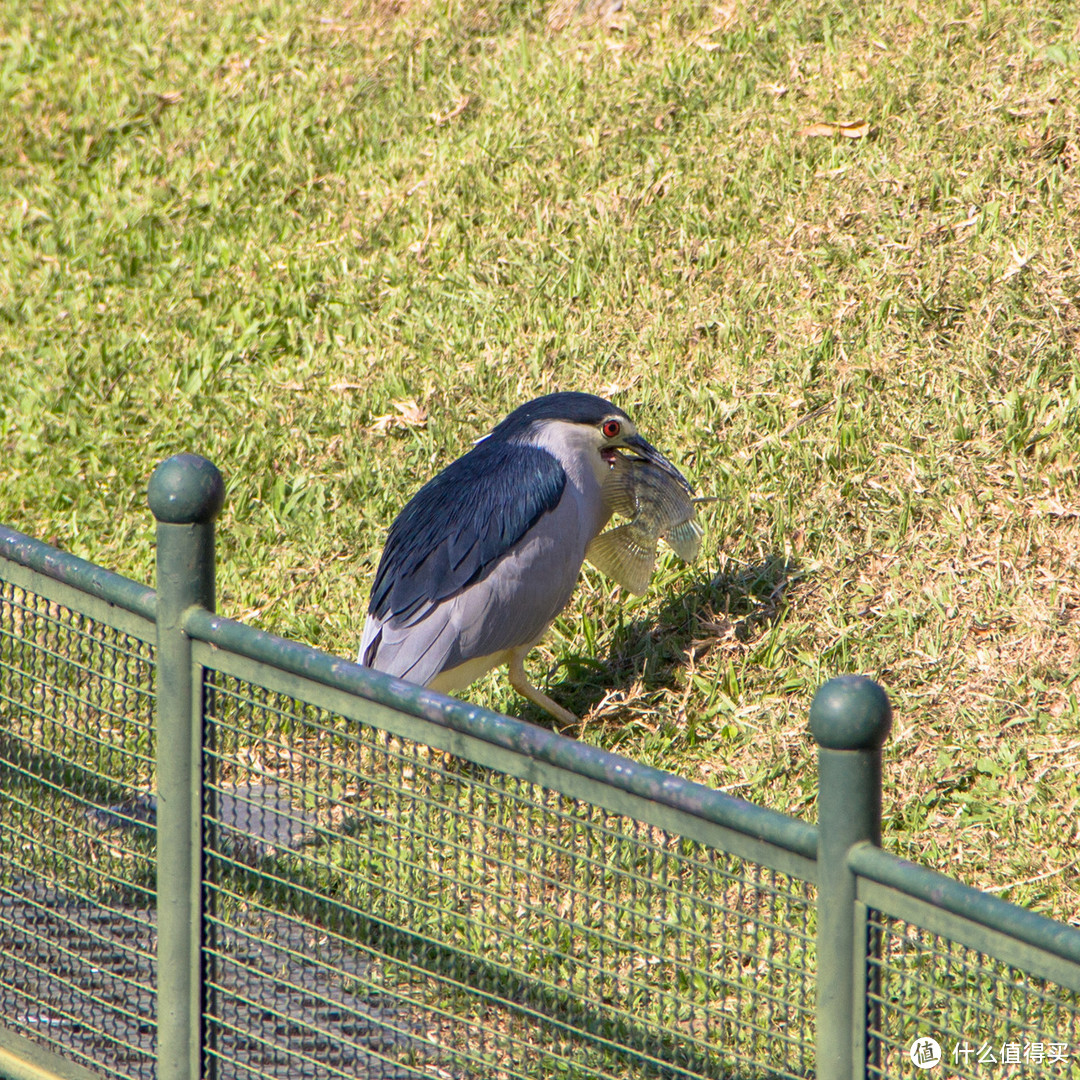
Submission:
[[[0,530],[0,1076],[1080,1077],[1080,931],[880,841],[883,692],[811,826]]]

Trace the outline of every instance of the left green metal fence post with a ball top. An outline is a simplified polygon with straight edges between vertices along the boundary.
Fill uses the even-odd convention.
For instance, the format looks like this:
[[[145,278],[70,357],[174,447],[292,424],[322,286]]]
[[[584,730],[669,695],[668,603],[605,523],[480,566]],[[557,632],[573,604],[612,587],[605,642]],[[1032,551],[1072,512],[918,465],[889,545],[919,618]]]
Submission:
[[[202,698],[184,632],[192,607],[214,609],[214,518],[221,474],[177,454],[150,477],[158,522],[158,1080],[202,1067]]]

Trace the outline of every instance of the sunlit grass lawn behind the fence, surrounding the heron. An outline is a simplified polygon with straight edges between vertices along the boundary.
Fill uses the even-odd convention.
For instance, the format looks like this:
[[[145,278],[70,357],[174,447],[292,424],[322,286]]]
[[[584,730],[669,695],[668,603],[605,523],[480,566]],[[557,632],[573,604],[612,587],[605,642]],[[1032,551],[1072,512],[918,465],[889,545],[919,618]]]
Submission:
[[[351,656],[419,483],[608,394],[717,501],[645,597],[586,569],[575,733],[812,818],[870,674],[887,846],[1075,919],[1075,5],[627,9],[4,4],[0,521],[150,581],[204,454],[220,610]]]

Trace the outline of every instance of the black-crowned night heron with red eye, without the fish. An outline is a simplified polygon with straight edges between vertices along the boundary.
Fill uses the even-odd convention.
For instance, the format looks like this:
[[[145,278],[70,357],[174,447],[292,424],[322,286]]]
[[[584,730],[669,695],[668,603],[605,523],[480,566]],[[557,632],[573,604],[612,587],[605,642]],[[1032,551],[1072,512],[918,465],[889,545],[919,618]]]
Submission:
[[[509,664],[518,693],[575,723],[529,683],[524,660],[570,599],[585,549],[617,504],[609,477],[627,462],[690,490],[603,397],[555,393],[515,409],[391,525],[360,662],[443,693]]]

